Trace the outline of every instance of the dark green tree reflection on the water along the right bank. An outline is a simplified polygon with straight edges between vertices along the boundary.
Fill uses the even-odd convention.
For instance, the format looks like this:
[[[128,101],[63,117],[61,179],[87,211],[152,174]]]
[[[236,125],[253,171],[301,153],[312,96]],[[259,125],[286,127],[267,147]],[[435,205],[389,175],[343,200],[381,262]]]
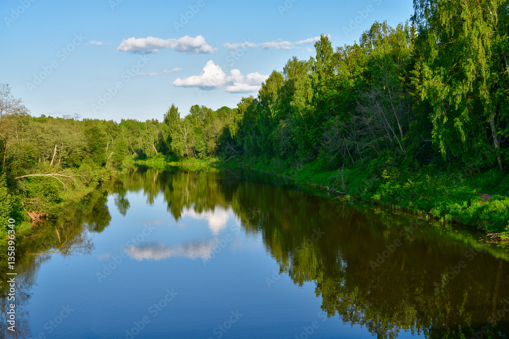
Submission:
[[[379,338],[395,338],[402,330],[429,338],[470,337],[483,326],[489,328],[483,337],[509,333],[507,319],[489,321],[509,297],[507,253],[488,248],[468,232],[427,222],[413,229],[416,218],[283,189],[277,179],[260,174],[141,172],[126,176],[125,187],[143,188],[148,202],[163,194],[176,220],[204,218],[218,232],[226,227],[225,210],[231,205],[246,232],[262,234],[281,271],[300,286],[316,284],[329,317],[361,324]],[[399,246],[373,269],[370,262],[398,239]],[[208,248],[213,245],[210,241]],[[188,256],[187,249],[194,248],[186,244],[172,251]],[[478,255],[468,261],[465,251],[470,249]],[[447,280],[461,260],[467,266]]]

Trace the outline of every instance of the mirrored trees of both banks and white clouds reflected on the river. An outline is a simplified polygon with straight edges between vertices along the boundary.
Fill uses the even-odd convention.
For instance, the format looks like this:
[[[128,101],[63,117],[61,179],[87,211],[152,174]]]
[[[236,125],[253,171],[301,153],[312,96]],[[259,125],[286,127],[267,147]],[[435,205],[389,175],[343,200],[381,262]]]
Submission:
[[[378,338],[395,338],[402,331],[428,338],[509,333],[509,312],[503,311],[509,299],[506,250],[487,246],[472,233],[323,199],[284,188],[277,178],[242,171],[132,169],[106,192],[56,215],[20,245],[18,274],[26,282],[26,299],[38,265],[50,253],[90,253],[87,230],[102,232],[111,219],[107,196],[125,216],[131,206],[128,192],[143,192],[149,205],[162,195],[176,225],[186,227],[186,218],[203,220],[211,234],[178,244],[125,246],[134,260],[206,262],[218,235],[234,223],[260,235],[280,272],[296,285],[313,282],[328,317],[360,324]],[[5,281],[5,271],[2,276]]]

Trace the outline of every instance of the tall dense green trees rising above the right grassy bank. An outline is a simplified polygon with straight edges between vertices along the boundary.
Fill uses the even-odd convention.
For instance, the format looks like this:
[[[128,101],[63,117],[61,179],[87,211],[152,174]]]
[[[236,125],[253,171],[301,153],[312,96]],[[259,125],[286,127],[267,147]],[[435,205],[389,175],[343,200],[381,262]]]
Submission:
[[[257,98],[239,103],[236,146],[250,157],[297,166],[318,159],[330,169],[394,153],[419,164],[463,165],[482,153],[482,166],[502,168],[508,156],[507,28],[501,29],[507,5],[493,10],[498,33],[490,31],[496,23],[486,17],[489,9],[468,6],[423,8],[416,23],[395,28],[376,22],[358,43],[335,52],[322,36],[316,58],[289,60]],[[472,32],[477,23],[462,19],[476,8],[475,22],[483,21],[485,33]],[[435,18],[432,10],[448,12]]]

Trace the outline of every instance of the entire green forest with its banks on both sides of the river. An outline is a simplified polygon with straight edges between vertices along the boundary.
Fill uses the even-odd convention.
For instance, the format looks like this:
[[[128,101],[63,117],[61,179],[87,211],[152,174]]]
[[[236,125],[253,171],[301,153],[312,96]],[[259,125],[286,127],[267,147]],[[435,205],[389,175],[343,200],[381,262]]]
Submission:
[[[509,3],[414,9],[352,45],[334,49],[322,35],[315,57],[291,58],[233,109],[184,115],[171,105],[161,121],[35,117],[0,85],[0,228],[43,218],[129,163],[197,159],[508,238]]]

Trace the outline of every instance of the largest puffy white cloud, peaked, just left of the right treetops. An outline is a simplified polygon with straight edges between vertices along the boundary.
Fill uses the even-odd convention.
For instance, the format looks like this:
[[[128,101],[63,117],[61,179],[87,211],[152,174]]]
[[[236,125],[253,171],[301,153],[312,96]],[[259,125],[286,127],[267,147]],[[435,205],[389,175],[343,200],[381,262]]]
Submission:
[[[178,87],[198,87],[203,90],[228,86],[225,91],[230,93],[250,93],[260,89],[260,84],[269,76],[258,72],[243,76],[239,70],[230,71],[230,76],[223,72],[221,67],[209,60],[200,75],[187,78],[177,78],[172,84]]]

